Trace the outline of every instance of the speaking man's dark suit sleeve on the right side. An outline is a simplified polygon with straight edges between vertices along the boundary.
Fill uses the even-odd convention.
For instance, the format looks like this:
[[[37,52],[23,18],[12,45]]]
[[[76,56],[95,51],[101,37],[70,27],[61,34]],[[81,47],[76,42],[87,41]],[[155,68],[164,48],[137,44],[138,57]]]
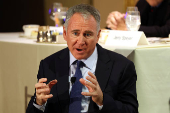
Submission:
[[[113,75],[114,76],[114,75]],[[114,77],[113,77],[114,78]],[[103,92],[102,113],[138,113],[136,94],[137,75],[134,64],[129,62],[121,72],[116,95]]]

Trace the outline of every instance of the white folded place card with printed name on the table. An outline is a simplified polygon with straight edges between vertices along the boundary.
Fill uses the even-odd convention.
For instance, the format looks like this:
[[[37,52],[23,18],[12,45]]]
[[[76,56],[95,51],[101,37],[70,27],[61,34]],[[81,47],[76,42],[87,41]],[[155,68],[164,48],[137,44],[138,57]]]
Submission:
[[[138,45],[149,45],[145,34],[142,31],[119,31],[104,30],[107,32],[105,45],[136,47]]]

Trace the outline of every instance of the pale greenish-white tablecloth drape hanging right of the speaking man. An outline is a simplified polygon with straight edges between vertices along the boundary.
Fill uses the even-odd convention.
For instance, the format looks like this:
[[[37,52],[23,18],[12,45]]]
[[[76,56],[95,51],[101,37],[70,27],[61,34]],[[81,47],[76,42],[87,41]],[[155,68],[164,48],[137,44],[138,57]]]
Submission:
[[[137,72],[139,113],[169,113],[170,46],[136,49],[131,59]]]

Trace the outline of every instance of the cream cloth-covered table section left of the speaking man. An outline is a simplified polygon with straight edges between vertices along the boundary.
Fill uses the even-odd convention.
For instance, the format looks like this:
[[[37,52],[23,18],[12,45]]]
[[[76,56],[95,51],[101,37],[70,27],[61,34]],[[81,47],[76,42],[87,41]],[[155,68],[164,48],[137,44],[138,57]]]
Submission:
[[[0,34],[0,113],[24,113],[25,86],[32,95],[40,60],[66,47],[66,44],[39,44],[35,39],[18,35]]]

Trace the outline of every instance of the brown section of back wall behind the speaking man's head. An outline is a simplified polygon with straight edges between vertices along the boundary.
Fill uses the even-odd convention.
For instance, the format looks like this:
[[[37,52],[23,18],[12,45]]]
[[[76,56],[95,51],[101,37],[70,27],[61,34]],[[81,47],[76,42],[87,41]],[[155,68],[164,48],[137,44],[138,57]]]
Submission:
[[[54,21],[50,19],[48,9],[54,2],[60,2],[63,6],[71,7],[80,3],[87,3],[95,6],[101,13],[101,28],[106,26],[106,19],[111,11],[124,12],[125,0],[45,0],[45,23],[54,26]]]

